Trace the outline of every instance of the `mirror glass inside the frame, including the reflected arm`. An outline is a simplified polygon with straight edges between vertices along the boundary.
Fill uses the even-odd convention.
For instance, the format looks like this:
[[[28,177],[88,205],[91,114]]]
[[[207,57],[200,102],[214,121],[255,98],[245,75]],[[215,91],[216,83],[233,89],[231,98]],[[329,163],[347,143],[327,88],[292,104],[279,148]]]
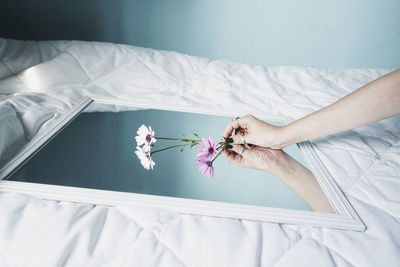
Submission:
[[[251,163],[248,168],[235,164],[241,147],[234,146],[213,161],[213,178],[204,176],[207,173],[199,171],[204,166],[196,161],[202,139],[193,133],[206,141],[211,137],[217,143],[214,148],[222,149],[221,134],[230,119],[91,104],[7,179],[334,213],[297,145],[284,150],[246,146],[242,157]],[[135,153],[142,125],[155,132],[156,141],[148,149],[162,150],[151,154],[155,165],[145,166],[150,170]]]

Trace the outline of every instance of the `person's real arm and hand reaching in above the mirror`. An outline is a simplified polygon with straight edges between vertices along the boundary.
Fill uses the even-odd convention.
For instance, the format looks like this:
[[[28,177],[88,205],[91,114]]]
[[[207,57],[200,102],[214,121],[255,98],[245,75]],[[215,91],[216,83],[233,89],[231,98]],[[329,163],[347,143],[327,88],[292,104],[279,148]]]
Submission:
[[[233,130],[239,130],[249,144],[280,149],[396,115],[400,115],[400,70],[286,126],[273,126],[246,115],[230,121],[222,136],[231,137],[232,143],[240,144],[241,135],[233,134]]]

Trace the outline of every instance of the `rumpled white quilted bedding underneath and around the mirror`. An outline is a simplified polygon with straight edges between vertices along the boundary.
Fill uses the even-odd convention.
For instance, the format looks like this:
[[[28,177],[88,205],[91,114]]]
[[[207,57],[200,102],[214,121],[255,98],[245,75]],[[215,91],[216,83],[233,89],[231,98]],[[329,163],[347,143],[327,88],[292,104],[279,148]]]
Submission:
[[[390,71],[264,68],[75,41],[0,39],[0,58],[1,104],[26,141],[84,95],[293,119]],[[400,266],[399,138],[397,117],[313,140],[365,232],[0,193],[0,266]]]

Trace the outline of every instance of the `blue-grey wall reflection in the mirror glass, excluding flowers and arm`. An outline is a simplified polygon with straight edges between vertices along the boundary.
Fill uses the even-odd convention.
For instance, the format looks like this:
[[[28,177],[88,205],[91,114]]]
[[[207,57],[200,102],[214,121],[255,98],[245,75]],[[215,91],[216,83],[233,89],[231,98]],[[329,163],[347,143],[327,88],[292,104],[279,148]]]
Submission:
[[[219,141],[230,119],[161,110],[81,113],[9,180],[311,210],[275,176],[238,168],[223,156],[214,163],[214,179],[207,179],[197,170],[195,149],[156,153],[153,170],[134,153],[142,124],[156,136],[196,132]],[[171,144],[158,140],[155,149]],[[286,151],[307,166],[297,146]]]

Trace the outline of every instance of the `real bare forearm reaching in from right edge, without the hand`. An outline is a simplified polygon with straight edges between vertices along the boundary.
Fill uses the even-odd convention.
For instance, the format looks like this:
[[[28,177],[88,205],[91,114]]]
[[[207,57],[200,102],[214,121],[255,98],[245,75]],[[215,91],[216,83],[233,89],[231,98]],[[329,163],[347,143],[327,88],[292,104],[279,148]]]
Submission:
[[[400,70],[391,72],[281,131],[280,146],[400,115]]]

